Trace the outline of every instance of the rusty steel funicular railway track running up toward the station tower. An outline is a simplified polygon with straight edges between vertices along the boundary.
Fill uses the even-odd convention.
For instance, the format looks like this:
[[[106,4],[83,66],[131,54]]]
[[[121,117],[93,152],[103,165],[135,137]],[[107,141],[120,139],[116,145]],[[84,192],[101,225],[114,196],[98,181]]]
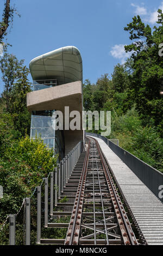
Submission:
[[[87,148],[80,155],[66,183],[55,216],[69,216],[69,223],[48,223],[49,228],[67,228],[65,239],[41,239],[43,244],[138,245],[101,148],[87,137]],[[60,211],[60,208],[62,211]]]

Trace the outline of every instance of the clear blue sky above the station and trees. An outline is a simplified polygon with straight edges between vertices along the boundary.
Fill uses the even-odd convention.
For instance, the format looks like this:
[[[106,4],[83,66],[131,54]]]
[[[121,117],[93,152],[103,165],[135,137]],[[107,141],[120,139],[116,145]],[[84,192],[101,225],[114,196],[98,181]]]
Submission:
[[[129,34],[124,31],[134,15],[154,26],[158,0],[11,0],[21,17],[15,15],[8,34],[10,53],[31,59],[66,45],[78,47],[83,58],[83,79],[96,82],[104,73],[128,57],[124,45]],[[0,3],[3,10],[4,0]],[[30,81],[32,81],[29,76]],[[3,90],[2,81],[0,92]]]

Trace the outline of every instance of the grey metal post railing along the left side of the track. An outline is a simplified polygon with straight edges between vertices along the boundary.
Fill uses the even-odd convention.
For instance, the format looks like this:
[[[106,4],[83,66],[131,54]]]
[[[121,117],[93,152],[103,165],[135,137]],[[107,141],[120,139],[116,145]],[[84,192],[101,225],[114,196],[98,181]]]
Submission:
[[[67,183],[74,166],[83,151],[83,141],[63,158],[40,186],[34,189],[31,197],[24,198],[20,210],[8,215],[0,227],[0,245],[36,245],[41,234],[53,216],[54,206],[61,199],[61,192]]]

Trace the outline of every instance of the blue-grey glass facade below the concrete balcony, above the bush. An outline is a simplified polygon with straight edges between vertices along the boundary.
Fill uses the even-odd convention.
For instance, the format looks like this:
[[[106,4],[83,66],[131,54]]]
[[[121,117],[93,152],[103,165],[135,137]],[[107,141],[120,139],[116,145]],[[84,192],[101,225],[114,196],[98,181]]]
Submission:
[[[41,136],[48,148],[54,149],[54,154],[59,153],[58,161],[64,158],[65,145],[62,130],[53,128],[53,113],[55,110],[32,111],[30,138]]]

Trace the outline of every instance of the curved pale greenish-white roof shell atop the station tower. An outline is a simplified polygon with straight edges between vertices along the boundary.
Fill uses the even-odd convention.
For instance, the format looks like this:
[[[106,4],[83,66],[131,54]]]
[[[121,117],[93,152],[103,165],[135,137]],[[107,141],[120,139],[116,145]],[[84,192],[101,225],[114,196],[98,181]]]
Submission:
[[[33,80],[57,79],[58,84],[82,81],[82,57],[75,46],[65,46],[32,59],[29,63]]]

